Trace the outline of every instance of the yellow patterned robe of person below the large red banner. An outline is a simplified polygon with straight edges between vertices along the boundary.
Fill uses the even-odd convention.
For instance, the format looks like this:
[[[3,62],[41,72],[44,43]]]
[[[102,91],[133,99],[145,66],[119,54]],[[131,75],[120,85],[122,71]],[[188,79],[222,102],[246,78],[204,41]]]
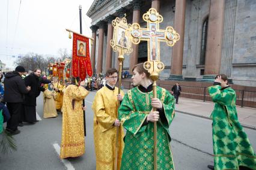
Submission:
[[[85,153],[82,100],[88,91],[73,84],[64,91],[62,106],[61,159],[78,157]]]

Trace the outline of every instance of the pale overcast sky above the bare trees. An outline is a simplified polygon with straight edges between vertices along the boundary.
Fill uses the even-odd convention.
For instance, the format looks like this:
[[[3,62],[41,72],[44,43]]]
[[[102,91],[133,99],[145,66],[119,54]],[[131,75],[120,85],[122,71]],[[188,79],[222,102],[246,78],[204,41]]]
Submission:
[[[86,13],[92,3],[93,0],[0,0],[0,59],[14,68],[17,57],[13,55],[34,52],[58,56],[59,48],[71,51],[72,40],[65,29],[79,32],[82,5],[82,32],[91,37],[91,19]]]

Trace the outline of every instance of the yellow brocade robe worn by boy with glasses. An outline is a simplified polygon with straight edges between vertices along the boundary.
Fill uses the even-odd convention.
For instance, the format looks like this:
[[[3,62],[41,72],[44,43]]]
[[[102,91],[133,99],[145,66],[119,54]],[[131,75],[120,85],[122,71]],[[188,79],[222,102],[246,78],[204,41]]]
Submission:
[[[115,87],[114,90],[110,90],[108,87],[104,86],[96,93],[93,101],[94,145],[97,170],[112,170],[115,166],[115,140],[117,128],[115,128],[114,123],[115,119],[117,119],[117,95],[117,87]],[[122,91],[121,95],[123,95]],[[123,138],[123,126],[120,126],[117,169],[120,169],[121,166],[121,158],[124,148]]]

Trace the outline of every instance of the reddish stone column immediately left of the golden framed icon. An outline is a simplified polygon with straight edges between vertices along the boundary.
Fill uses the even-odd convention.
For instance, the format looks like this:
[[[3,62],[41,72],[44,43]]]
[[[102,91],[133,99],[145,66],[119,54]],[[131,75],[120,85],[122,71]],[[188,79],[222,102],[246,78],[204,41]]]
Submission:
[[[108,16],[108,37],[107,37],[107,47],[106,47],[106,71],[112,67],[112,47],[110,45],[110,40],[113,38],[113,26],[112,20],[115,19],[114,16]]]

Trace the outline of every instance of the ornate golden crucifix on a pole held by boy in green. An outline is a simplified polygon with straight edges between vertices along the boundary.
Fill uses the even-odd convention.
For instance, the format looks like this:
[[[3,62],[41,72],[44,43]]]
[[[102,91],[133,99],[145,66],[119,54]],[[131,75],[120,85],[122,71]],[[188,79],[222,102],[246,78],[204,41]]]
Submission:
[[[133,44],[140,41],[148,41],[148,60],[144,62],[144,68],[150,73],[153,80],[153,98],[157,98],[156,81],[159,78],[165,65],[160,61],[160,42],[166,42],[168,46],[173,46],[180,39],[180,35],[171,27],[165,30],[159,29],[159,23],[163,22],[163,17],[154,8],[150,8],[143,14],[143,20],[147,22],[147,28],[141,28],[138,23],[133,23],[129,27],[129,38]],[[153,108],[156,111],[156,108]],[[157,169],[157,123],[154,122],[154,169]]]

